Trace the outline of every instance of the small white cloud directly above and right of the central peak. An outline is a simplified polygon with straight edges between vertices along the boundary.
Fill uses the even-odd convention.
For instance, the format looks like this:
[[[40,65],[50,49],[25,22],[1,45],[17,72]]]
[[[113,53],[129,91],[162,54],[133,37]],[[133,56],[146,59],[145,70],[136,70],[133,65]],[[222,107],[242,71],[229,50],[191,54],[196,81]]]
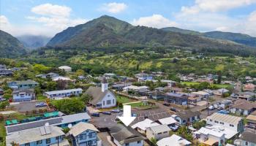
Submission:
[[[119,13],[127,9],[127,4],[111,2],[108,4],[103,4],[101,9],[103,11],[110,12],[110,13]]]

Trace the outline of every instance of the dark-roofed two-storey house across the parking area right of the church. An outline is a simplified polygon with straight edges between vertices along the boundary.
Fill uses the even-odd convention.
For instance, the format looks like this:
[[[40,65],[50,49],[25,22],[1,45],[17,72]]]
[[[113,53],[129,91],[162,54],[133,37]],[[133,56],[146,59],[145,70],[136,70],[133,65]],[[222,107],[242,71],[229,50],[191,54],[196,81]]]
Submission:
[[[180,105],[187,105],[188,95],[185,93],[165,93],[165,100]]]

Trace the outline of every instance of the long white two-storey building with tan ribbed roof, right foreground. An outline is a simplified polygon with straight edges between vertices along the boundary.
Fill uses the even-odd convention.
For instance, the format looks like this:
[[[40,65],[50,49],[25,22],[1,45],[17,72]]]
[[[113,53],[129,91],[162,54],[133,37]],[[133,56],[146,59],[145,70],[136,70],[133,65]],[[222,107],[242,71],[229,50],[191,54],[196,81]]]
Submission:
[[[225,115],[215,112],[206,118],[206,123],[211,126],[223,126],[233,131],[244,131],[242,118],[233,115]]]

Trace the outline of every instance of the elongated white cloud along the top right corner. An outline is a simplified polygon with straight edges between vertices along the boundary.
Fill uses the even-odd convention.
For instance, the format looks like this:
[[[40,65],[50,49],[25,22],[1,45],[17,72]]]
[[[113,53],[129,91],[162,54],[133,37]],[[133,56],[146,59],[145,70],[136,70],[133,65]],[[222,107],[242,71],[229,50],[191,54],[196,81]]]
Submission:
[[[196,0],[191,7],[181,7],[181,12],[197,14],[198,12],[219,12],[256,3],[256,0]]]

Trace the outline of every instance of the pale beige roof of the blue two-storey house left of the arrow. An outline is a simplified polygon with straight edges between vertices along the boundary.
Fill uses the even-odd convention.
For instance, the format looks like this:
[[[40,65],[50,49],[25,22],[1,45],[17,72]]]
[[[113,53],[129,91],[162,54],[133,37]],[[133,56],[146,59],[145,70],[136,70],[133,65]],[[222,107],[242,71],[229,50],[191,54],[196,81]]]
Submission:
[[[72,128],[70,128],[69,134],[72,134],[74,137],[76,137],[79,134],[83,133],[83,131],[86,131],[86,130],[92,130],[92,131],[99,132],[99,130],[91,123],[80,122],[80,123],[76,124],[75,126],[73,126]]]

